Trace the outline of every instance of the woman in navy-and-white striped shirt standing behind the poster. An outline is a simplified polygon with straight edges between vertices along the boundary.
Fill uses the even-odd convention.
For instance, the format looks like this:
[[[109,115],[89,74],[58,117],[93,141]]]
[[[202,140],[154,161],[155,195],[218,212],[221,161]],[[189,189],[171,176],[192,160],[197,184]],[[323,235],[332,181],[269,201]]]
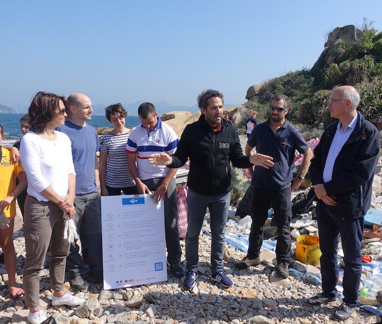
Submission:
[[[99,180],[102,196],[136,194],[135,181],[127,166],[126,143],[130,129],[125,127],[127,111],[121,104],[106,107],[106,118],[114,129],[99,139]]]

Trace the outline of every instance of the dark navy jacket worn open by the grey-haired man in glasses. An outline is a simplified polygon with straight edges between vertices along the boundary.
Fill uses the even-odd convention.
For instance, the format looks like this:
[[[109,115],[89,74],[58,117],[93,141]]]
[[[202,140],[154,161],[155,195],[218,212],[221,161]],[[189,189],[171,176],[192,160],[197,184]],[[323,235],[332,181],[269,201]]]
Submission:
[[[327,194],[336,197],[337,205],[328,208],[340,217],[363,217],[371,205],[379,132],[361,113],[357,114],[356,126],[334,162],[332,179],[324,184],[323,172],[338,122],[329,125],[321,136],[309,168],[312,184],[324,184]]]

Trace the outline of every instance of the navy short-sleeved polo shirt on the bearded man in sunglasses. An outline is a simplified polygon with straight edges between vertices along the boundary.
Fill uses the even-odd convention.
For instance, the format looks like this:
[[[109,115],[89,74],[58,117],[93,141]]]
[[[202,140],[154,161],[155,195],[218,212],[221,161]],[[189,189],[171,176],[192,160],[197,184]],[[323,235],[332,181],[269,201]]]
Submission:
[[[268,190],[282,190],[291,185],[295,151],[302,154],[309,148],[303,136],[287,120],[273,133],[269,127],[269,119],[254,128],[248,145],[256,147],[257,153],[273,157],[272,168],[255,166],[252,177],[254,187]]]

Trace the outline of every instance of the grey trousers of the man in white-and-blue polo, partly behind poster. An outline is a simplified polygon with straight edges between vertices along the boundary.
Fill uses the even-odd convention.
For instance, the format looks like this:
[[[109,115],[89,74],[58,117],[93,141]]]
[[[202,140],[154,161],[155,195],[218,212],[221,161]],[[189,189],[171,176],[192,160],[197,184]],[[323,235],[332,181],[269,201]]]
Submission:
[[[154,192],[162,184],[164,177],[142,180],[142,182]],[[176,265],[180,262],[182,250],[179,243],[178,231],[178,209],[176,206],[176,183],[172,179],[167,186],[167,191],[164,199],[165,204],[165,232],[167,246],[167,262],[170,265]]]

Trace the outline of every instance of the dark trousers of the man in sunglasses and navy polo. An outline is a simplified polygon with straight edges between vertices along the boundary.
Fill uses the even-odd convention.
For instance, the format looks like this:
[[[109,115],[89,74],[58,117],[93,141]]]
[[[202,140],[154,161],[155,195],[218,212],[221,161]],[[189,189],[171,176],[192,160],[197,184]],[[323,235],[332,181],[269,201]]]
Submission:
[[[274,220],[277,226],[277,262],[290,262],[291,233],[290,221],[292,219],[291,188],[283,190],[267,190],[253,188],[251,217],[252,226],[249,234],[248,257],[255,258],[260,255],[263,244],[263,227],[268,218],[270,207],[274,210]]]

